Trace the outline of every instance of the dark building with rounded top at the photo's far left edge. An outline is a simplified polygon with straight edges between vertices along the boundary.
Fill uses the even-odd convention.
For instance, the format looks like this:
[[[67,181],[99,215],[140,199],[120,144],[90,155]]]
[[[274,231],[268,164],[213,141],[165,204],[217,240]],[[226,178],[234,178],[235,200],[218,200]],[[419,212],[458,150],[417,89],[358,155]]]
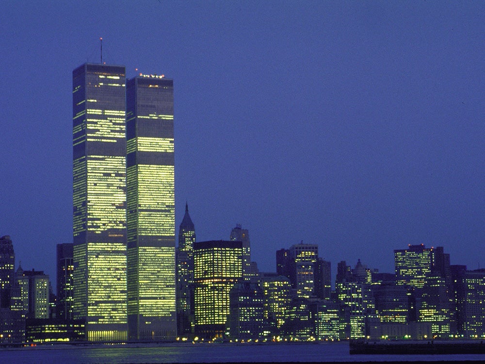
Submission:
[[[10,236],[5,235],[0,238],[0,308],[10,308],[14,269],[14,246]]]

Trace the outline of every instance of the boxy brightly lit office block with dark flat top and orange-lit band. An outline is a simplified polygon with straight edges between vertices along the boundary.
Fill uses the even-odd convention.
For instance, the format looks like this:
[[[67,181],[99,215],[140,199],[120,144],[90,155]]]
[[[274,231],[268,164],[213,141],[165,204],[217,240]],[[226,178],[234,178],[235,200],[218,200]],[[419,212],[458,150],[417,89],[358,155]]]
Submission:
[[[222,337],[229,316],[229,291],[242,279],[242,243],[205,241],[194,245],[195,335]]]

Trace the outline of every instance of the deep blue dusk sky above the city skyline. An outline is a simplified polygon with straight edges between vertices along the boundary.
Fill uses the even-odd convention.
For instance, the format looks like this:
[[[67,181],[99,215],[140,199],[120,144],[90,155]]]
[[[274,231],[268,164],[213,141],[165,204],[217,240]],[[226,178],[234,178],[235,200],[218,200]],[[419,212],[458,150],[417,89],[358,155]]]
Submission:
[[[72,70],[174,79],[176,232],[249,229],[394,271],[485,267],[484,1],[2,1],[0,236],[55,282],[72,242]],[[138,71],[136,70],[138,68]]]

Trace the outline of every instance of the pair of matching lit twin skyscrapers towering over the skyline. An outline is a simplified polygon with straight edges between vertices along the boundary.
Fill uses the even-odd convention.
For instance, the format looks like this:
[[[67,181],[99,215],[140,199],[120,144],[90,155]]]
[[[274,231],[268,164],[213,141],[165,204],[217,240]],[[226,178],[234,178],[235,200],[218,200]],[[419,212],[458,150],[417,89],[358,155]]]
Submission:
[[[176,335],[173,80],[73,73],[75,319],[90,341]]]

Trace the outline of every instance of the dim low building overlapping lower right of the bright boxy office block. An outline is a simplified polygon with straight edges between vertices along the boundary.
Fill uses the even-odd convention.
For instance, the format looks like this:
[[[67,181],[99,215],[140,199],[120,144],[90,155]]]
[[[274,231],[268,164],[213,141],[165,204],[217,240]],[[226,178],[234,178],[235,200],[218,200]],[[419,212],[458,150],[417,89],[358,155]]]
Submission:
[[[263,335],[263,291],[258,283],[242,281],[229,291],[229,337],[257,339]]]

